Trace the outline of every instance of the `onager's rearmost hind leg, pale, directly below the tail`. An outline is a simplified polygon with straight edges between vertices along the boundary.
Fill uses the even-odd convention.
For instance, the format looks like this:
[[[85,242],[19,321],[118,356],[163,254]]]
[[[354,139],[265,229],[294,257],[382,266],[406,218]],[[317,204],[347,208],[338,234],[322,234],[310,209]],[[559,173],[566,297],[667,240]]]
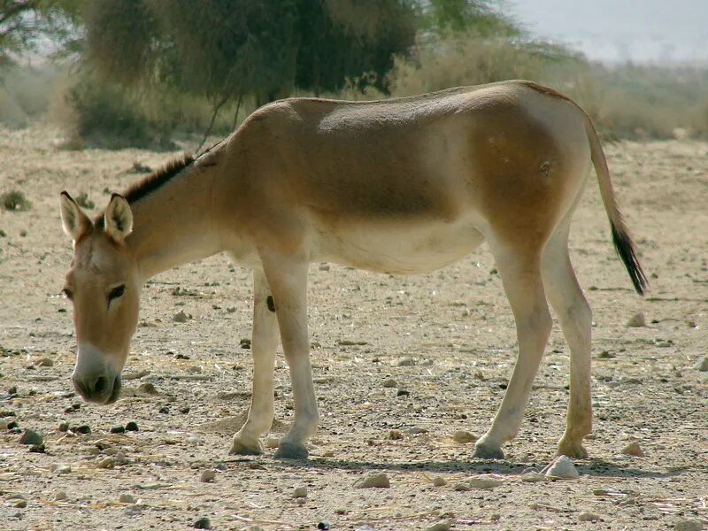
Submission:
[[[582,439],[592,431],[590,396],[590,335],[592,312],[582,294],[568,256],[568,222],[551,236],[542,260],[543,285],[550,304],[558,314],[563,335],[570,347],[570,400],[566,433],[558,443],[558,453],[587,458]]]

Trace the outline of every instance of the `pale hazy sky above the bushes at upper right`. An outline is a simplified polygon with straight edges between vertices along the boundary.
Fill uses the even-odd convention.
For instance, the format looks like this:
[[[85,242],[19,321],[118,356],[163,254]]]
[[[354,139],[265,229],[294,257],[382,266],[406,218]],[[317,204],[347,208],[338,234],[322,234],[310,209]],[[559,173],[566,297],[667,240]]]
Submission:
[[[534,35],[604,62],[708,63],[708,0],[503,0]]]

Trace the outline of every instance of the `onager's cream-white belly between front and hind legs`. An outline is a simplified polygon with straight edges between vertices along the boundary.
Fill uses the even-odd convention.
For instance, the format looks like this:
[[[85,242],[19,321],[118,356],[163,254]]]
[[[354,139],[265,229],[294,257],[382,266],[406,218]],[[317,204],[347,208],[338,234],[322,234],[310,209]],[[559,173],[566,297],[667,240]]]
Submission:
[[[465,257],[484,241],[479,230],[461,223],[365,224],[317,232],[315,261],[394,274],[435,271]]]

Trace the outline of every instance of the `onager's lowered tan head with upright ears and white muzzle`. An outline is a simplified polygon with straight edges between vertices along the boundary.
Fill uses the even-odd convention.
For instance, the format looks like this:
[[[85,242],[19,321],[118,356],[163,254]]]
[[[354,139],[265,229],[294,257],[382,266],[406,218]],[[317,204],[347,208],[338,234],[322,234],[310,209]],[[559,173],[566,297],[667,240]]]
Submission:
[[[89,402],[112,404],[138,321],[142,281],[126,239],[133,214],[113,194],[102,219],[91,221],[68,193],[61,193],[64,232],[73,239],[73,261],[64,295],[73,303],[76,330],[74,388]]]

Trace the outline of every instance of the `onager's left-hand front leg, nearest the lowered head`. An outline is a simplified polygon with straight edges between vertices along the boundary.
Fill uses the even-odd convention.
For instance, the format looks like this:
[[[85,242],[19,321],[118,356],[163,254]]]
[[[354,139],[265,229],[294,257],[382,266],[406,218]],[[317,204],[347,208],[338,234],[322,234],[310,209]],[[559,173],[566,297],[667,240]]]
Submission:
[[[271,291],[266,274],[253,271],[253,329],[250,351],[253,355],[253,391],[249,417],[234,436],[230,454],[258,455],[263,445],[258,438],[273,424],[273,367],[278,348],[278,319],[268,306]]]

